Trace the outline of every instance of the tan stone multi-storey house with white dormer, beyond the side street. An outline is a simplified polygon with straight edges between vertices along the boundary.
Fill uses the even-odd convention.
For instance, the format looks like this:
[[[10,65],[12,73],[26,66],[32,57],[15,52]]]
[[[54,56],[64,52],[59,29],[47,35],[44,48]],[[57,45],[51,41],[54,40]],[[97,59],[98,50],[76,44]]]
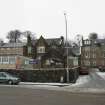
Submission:
[[[105,39],[83,40],[81,47],[81,66],[105,66]]]

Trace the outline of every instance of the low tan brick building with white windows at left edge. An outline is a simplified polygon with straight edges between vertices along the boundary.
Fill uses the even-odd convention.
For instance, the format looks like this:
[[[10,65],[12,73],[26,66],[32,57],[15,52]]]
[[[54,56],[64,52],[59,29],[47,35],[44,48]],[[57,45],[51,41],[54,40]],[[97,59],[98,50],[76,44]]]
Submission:
[[[26,43],[0,44],[0,69],[32,68],[29,64],[31,58],[26,56]]]

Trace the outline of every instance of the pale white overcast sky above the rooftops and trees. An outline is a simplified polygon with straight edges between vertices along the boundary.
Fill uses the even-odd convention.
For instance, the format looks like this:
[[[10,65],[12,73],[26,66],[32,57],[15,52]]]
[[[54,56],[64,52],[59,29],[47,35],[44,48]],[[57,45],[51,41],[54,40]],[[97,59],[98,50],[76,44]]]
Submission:
[[[37,37],[65,36],[64,11],[69,39],[91,32],[105,35],[105,0],[0,0],[0,37],[14,29]]]

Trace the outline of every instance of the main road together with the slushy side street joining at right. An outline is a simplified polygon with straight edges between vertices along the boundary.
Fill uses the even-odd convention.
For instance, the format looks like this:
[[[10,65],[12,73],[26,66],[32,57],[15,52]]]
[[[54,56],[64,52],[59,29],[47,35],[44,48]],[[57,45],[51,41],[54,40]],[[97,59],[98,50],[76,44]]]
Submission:
[[[105,91],[82,92],[84,89],[87,91],[88,88],[90,90],[96,88],[100,91],[104,87],[104,80],[96,74],[95,70],[90,71],[88,82],[75,87],[0,85],[0,105],[105,105]]]

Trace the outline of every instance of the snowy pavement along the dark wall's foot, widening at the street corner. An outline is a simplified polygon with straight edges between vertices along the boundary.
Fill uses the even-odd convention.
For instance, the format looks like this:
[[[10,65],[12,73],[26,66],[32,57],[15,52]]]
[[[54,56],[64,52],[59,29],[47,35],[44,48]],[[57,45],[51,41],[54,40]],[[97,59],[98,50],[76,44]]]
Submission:
[[[32,82],[21,82],[19,87],[21,88],[30,88],[30,89],[47,89],[55,91],[68,91],[73,93],[105,93],[105,89],[95,88],[95,85],[92,86],[90,75],[79,76],[76,83],[32,83]]]

